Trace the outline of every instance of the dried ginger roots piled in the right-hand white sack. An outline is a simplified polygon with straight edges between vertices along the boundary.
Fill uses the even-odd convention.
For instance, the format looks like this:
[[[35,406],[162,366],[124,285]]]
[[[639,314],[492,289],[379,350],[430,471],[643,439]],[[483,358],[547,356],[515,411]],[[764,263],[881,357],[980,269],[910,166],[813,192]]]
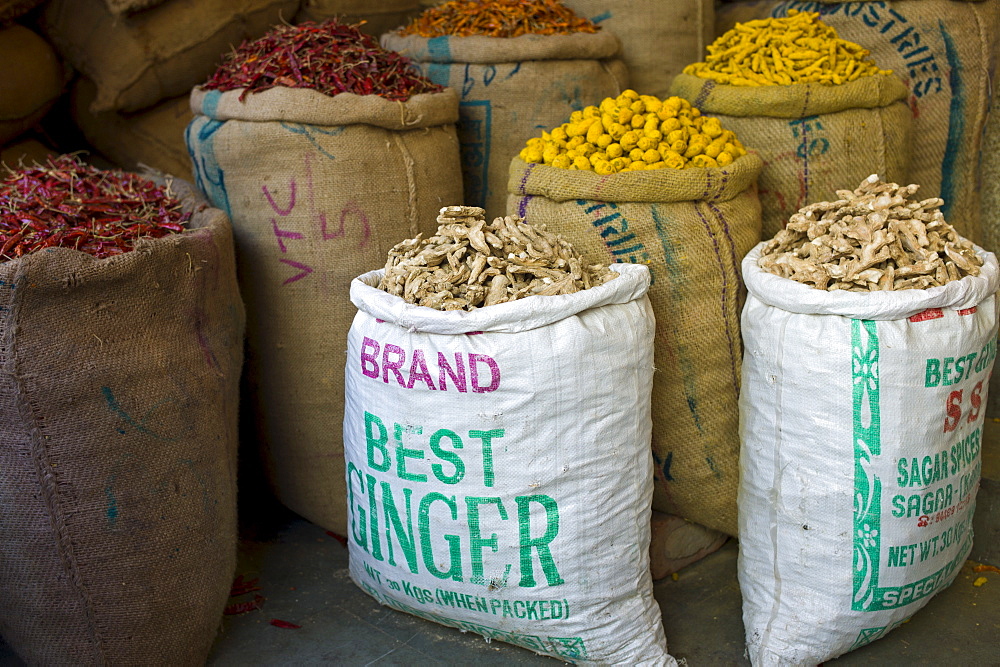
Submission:
[[[926,289],[979,275],[972,242],[945,222],[933,197],[910,200],[919,185],[872,174],[839,200],[792,214],[761,250],[757,265],[816,289],[875,292]]]

